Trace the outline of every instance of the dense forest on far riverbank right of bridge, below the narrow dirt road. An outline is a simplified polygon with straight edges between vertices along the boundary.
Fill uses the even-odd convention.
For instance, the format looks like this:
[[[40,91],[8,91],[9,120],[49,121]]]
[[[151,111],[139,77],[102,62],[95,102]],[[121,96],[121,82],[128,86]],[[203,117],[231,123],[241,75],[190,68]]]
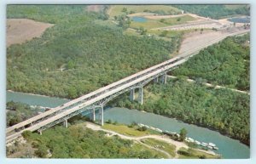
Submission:
[[[166,85],[148,85],[144,93],[143,105],[131,102],[128,93],[116,99],[113,105],[209,127],[249,144],[250,97],[247,94],[208,88],[185,79],[168,80]]]

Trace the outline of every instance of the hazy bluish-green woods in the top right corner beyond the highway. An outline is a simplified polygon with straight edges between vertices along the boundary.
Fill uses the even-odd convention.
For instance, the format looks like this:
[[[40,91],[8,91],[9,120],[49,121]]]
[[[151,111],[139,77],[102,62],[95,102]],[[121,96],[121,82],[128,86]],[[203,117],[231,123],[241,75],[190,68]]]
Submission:
[[[199,14],[212,19],[221,19],[227,16],[243,14],[250,15],[249,5],[224,5],[224,4],[176,4],[173,7],[183,9],[185,12]]]

